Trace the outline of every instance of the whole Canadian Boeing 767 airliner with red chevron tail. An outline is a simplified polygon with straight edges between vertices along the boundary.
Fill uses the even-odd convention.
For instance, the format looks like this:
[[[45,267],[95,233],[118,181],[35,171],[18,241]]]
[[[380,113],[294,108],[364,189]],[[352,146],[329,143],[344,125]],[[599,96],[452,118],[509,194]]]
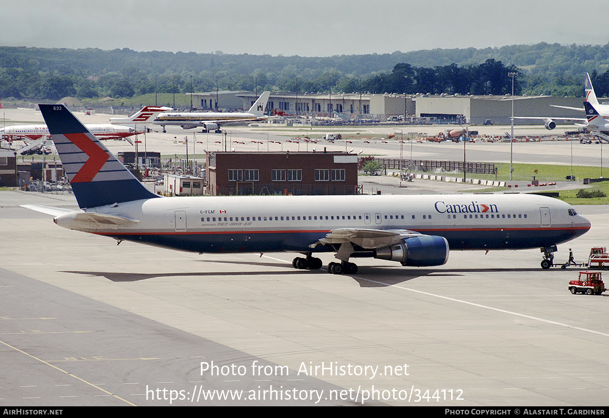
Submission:
[[[160,197],[150,193],[62,105],[40,105],[80,210],[54,214],[62,227],[119,241],[199,253],[299,252],[292,265],[319,269],[315,252],[335,252],[334,274],[354,274],[354,257],[440,266],[449,248],[541,248],[590,229],[560,200],[530,194],[421,196]]]

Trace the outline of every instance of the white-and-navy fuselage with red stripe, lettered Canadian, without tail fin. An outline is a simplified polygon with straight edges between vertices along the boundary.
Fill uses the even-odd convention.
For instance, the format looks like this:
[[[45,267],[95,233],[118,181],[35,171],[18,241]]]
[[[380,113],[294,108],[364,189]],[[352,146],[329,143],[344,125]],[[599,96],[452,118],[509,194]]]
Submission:
[[[70,214],[56,222],[201,253],[333,251],[311,246],[345,228],[443,236],[452,250],[515,250],[554,246],[590,229],[590,222],[568,204],[533,195],[180,197],[113,206],[85,211],[139,222],[108,227],[74,221]]]

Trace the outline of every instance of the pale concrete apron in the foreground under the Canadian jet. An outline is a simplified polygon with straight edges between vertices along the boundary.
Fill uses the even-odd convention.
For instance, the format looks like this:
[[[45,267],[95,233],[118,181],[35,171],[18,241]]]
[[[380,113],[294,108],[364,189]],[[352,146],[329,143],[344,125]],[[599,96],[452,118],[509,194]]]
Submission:
[[[607,405],[609,295],[572,295],[579,269],[542,270],[538,249],[333,275],[117,246],[25,204],[77,207],[0,191],[3,405]],[[607,246],[609,207],[576,210],[592,228],[556,263]]]

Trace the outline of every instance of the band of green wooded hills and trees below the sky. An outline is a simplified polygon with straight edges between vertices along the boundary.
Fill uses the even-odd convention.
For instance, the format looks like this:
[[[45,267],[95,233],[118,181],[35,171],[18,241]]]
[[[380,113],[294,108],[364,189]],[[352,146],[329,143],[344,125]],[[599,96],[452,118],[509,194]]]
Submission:
[[[590,72],[600,97],[609,94],[608,68],[609,44],[541,43],[334,57],[0,47],[0,99],[127,98],[216,88],[509,94],[512,80],[507,73],[512,71],[519,73],[516,94],[574,97],[583,96],[583,73]]]

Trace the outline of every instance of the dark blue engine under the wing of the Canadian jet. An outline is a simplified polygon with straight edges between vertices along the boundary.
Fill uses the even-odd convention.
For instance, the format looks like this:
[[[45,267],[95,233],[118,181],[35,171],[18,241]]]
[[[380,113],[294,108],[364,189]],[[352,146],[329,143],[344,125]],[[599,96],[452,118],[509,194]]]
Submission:
[[[442,266],[448,261],[448,252],[448,241],[443,236],[420,235],[376,249],[375,258],[400,261],[403,266],[411,267]]]

